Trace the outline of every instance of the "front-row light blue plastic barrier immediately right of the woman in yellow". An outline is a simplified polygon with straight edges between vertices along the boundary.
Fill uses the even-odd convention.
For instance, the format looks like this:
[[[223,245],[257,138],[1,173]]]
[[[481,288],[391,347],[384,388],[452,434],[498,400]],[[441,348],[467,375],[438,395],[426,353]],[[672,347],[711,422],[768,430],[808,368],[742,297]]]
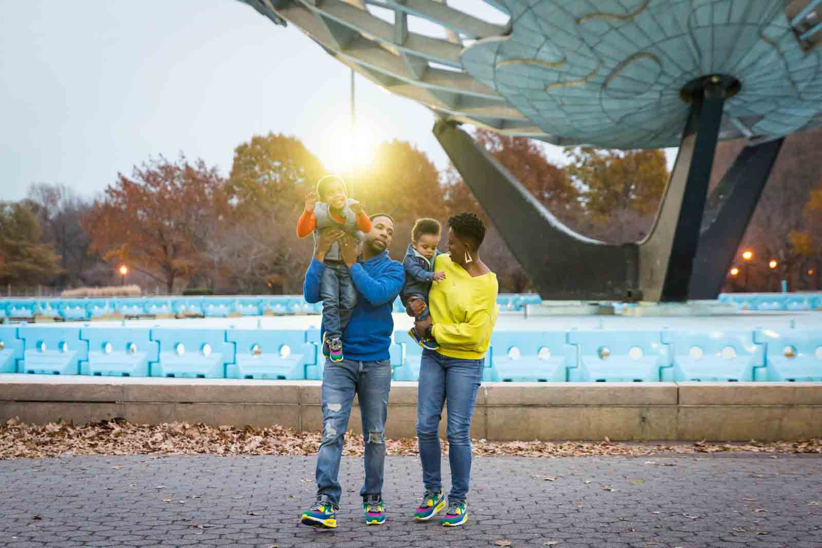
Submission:
[[[506,382],[564,382],[576,367],[565,331],[498,331],[491,348],[494,376]]]

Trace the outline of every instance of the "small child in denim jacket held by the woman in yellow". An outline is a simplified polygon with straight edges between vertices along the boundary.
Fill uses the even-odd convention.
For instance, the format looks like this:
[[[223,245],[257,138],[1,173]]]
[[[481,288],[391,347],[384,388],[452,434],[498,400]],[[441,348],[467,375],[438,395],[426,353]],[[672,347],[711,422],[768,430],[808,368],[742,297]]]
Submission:
[[[418,321],[428,317],[428,291],[432,282],[446,279],[445,272],[434,272],[434,259],[441,254],[441,251],[436,249],[440,243],[441,232],[440,222],[436,219],[417,219],[411,229],[411,243],[405,251],[405,285],[399,292],[399,299],[405,306],[408,306],[410,297],[425,301],[425,310],[417,316]],[[409,329],[409,335],[423,348],[434,350],[437,347],[433,339],[420,339],[413,327]]]

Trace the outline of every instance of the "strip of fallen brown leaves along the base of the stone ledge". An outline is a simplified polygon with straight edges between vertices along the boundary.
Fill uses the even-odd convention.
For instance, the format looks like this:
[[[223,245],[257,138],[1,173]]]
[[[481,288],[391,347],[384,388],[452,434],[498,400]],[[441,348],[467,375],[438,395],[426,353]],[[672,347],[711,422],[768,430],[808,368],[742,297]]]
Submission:
[[[127,421],[97,421],[76,426],[67,422],[28,425],[17,418],[0,423],[0,460],[8,458],[46,458],[61,455],[127,455],[150,454],[157,458],[170,454],[217,455],[316,455],[320,432],[296,432],[282,426],[207,426],[187,422],[136,425]],[[362,456],[362,435],[345,436],[344,456]],[[444,442],[447,454],[448,444]],[[746,444],[711,444],[699,441],[691,445],[621,444],[607,438],[605,442],[578,441],[510,441],[473,440],[473,454],[478,456],[511,455],[520,457],[588,457],[653,456],[662,453],[694,454],[718,451],[754,453],[822,454],[822,438],[794,442],[778,441]],[[386,454],[417,455],[417,440],[386,440]],[[659,466],[672,463],[659,462]],[[118,465],[122,466],[122,465]],[[163,489],[165,486],[157,486]]]

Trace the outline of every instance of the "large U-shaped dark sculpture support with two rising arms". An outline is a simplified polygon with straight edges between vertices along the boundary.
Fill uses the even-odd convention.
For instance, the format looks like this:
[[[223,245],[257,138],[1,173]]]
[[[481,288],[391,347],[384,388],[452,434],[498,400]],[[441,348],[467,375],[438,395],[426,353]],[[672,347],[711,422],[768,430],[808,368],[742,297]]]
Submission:
[[[434,134],[543,299],[685,301],[732,85],[707,76],[687,90],[690,114],[657,219],[644,241],[623,246],[567,228],[453,122],[436,122]]]

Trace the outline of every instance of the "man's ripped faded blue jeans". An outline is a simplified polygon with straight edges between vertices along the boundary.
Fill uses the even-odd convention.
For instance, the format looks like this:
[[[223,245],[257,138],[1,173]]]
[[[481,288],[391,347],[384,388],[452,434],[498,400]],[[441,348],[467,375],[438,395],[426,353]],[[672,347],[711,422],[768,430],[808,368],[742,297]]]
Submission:
[[[326,360],[322,373],[322,441],[316,456],[317,495],[339,506],[342,487],[339,459],[343,454],[354,394],[359,397],[365,437],[365,481],[360,495],[381,495],[386,469],[386,417],[391,366],[383,361]]]

